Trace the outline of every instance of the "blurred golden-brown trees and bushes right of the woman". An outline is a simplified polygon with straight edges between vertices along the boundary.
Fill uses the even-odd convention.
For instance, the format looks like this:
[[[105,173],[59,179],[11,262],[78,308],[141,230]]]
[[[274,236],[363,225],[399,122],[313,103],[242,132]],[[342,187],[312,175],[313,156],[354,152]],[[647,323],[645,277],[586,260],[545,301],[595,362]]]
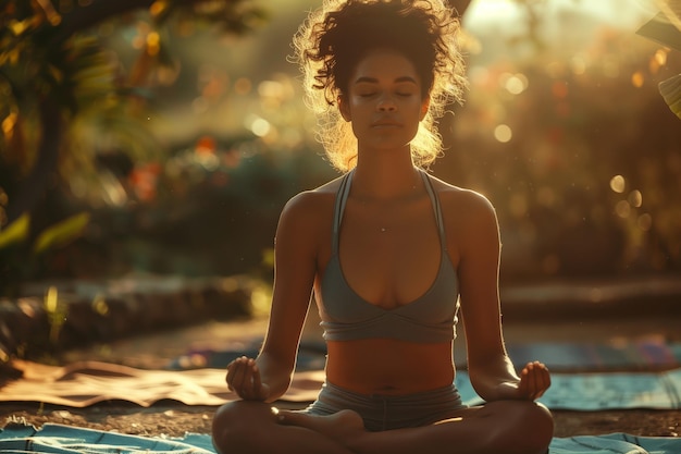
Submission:
[[[542,49],[471,59],[437,172],[495,203],[506,279],[678,272],[681,135],[654,89],[678,54],[608,27],[577,51]]]

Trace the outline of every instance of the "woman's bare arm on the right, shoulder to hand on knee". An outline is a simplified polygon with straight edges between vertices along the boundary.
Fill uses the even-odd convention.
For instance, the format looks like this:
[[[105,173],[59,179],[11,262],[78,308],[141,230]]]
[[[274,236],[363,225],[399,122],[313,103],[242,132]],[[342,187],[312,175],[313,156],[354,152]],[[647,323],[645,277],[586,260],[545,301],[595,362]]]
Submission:
[[[487,402],[535,400],[550,384],[547,368],[529,363],[518,375],[506,353],[499,304],[500,241],[496,213],[483,196],[463,192],[455,238],[471,384]]]

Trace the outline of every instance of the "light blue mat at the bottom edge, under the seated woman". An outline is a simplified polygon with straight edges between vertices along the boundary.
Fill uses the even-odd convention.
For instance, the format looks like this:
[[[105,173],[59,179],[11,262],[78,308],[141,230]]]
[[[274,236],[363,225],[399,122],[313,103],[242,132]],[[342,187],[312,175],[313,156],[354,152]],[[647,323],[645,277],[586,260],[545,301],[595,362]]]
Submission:
[[[549,449],[552,454],[677,454],[681,452],[681,439],[610,433],[554,438]],[[11,425],[0,430],[0,452],[209,454],[214,450],[209,434],[188,433],[182,439],[147,438],[46,424],[41,429]]]

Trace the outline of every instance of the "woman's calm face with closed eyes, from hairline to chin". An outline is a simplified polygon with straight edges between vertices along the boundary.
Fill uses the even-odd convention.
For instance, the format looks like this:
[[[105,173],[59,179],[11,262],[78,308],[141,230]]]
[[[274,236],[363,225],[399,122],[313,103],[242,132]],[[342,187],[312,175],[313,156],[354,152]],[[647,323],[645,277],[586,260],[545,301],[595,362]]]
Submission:
[[[340,114],[352,123],[359,148],[405,148],[428,111],[421,81],[411,61],[399,52],[376,49],[359,61]]]

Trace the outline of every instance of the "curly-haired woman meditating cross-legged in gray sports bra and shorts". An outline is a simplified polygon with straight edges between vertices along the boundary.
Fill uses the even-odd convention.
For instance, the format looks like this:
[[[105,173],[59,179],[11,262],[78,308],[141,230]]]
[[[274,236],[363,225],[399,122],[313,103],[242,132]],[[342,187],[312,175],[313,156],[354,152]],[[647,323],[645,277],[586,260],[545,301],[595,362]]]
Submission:
[[[442,0],[325,0],[296,35],[345,174],[282,212],[268,334],[227,367],[242,401],[215,415],[219,452],[547,451],[553,419],[534,400],[548,371],[517,376],[504,347],[494,209],[422,170],[441,151],[433,119],[465,86],[457,32]],[[312,289],[326,382],[307,409],[280,412],[269,403],[290,384]],[[459,309],[479,407],[453,385]]]

